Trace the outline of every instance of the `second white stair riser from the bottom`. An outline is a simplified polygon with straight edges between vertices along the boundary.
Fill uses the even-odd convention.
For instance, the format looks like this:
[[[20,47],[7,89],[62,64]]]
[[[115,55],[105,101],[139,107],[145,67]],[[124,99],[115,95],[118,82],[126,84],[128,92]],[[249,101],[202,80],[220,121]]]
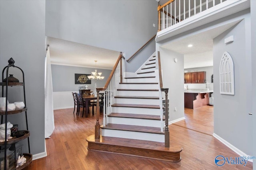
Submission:
[[[161,127],[160,120],[134,119],[134,118],[126,118],[126,117],[108,117],[108,123],[122,124],[122,125],[149,126],[149,127],[159,127],[159,128]]]

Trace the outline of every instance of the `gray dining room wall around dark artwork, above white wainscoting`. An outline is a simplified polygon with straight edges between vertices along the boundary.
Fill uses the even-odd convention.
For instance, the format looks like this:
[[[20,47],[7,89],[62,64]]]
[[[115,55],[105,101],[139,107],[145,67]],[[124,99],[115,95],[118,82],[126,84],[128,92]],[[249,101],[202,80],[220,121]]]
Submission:
[[[91,74],[95,68],[85,68],[76,66],[51,65],[52,68],[52,89],[53,92],[70,92],[78,91],[80,84],[75,84],[75,74]],[[88,89],[93,91],[95,82],[97,87],[104,87],[111,70],[97,68],[97,72],[102,72],[103,80],[91,80]]]

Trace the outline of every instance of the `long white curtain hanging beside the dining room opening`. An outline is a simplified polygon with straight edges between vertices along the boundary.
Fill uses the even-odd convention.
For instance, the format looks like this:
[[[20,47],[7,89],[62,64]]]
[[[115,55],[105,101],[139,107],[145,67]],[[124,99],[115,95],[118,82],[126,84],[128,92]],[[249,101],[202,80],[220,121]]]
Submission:
[[[45,59],[45,86],[44,86],[44,137],[49,138],[54,131],[53,98],[52,98],[52,70],[50,63],[50,48],[47,48]]]

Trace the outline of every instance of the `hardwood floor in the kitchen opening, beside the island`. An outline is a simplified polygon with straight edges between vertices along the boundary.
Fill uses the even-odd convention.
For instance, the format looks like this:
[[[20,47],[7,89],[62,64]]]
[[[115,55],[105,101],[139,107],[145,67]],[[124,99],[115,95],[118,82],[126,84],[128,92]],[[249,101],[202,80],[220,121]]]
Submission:
[[[194,131],[212,135],[214,132],[213,106],[204,106],[197,109],[185,108],[185,119],[174,123]]]

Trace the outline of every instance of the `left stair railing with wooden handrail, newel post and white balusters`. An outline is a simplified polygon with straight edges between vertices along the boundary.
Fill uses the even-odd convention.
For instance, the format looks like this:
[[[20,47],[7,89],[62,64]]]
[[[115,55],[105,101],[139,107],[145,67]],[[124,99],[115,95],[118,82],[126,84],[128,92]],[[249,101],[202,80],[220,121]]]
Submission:
[[[123,74],[125,70],[125,63],[122,52],[114,65],[108,80],[103,88],[96,88],[97,91],[97,104],[96,104],[96,125],[95,125],[95,139],[100,139],[100,91],[104,91],[104,106],[103,106],[103,126],[108,123],[108,115],[111,113],[111,105],[114,104],[114,96],[117,94],[119,83],[123,82]]]

